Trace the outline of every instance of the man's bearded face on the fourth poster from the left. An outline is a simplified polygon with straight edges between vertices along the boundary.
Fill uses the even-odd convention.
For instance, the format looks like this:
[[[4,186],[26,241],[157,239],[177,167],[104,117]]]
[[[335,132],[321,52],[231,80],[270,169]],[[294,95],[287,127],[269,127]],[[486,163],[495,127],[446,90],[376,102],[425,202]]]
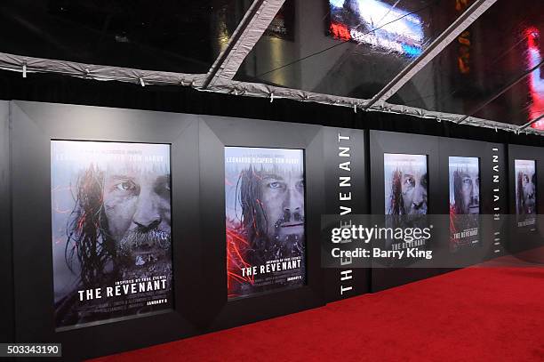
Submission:
[[[461,214],[480,213],[480,179],[478,171],[456,170],[453,180],[457,212]]]

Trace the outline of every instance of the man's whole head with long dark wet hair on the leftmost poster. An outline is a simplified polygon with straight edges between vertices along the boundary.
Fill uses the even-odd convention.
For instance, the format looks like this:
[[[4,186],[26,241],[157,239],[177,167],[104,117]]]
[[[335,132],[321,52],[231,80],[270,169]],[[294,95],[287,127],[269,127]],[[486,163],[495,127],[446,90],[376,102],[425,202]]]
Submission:
[[[68,237],[84,286],[109,278],[169,275],[171,259],[170,173],[164,165],[90,165],[79,175]]]

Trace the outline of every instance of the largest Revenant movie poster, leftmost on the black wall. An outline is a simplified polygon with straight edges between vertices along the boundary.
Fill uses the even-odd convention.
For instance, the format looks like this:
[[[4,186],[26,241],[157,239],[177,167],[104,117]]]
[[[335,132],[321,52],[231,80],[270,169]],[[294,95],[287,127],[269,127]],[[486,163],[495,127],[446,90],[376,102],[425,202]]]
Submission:
[[[170,146],[52,141],[57,329],[172,308]]]

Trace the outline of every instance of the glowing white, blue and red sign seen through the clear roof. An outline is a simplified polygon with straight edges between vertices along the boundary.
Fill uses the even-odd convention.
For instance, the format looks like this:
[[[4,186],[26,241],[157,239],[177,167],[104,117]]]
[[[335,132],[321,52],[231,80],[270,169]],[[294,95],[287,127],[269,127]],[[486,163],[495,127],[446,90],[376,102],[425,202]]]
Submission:
[[[419,16],[378,0],[329,0],[329,4],[333,37],[407,57],[421,54],[424,34]]]

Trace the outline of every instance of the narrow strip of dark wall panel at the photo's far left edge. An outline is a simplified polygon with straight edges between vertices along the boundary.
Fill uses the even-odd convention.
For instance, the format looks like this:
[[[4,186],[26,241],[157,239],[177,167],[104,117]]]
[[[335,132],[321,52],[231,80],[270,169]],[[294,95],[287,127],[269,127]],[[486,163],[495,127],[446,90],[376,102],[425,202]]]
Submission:
[[[10,104],[0,101],[0,342],[13,341]]]

